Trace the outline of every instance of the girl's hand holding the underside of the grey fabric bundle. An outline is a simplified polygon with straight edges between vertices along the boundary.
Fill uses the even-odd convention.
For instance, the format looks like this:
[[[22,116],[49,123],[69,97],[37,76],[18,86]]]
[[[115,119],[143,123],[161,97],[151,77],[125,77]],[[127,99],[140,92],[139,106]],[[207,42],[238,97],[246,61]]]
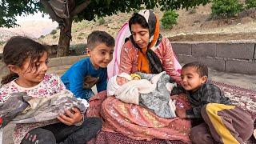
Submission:
[[[73,107],[72,110],[74,111],[74,114],[70,110],[65,110],[66,115],[61,114],[60,116],[58,116],[58,120],[68,126],[81,122],[83,116],[78,110],[78,108]]]

